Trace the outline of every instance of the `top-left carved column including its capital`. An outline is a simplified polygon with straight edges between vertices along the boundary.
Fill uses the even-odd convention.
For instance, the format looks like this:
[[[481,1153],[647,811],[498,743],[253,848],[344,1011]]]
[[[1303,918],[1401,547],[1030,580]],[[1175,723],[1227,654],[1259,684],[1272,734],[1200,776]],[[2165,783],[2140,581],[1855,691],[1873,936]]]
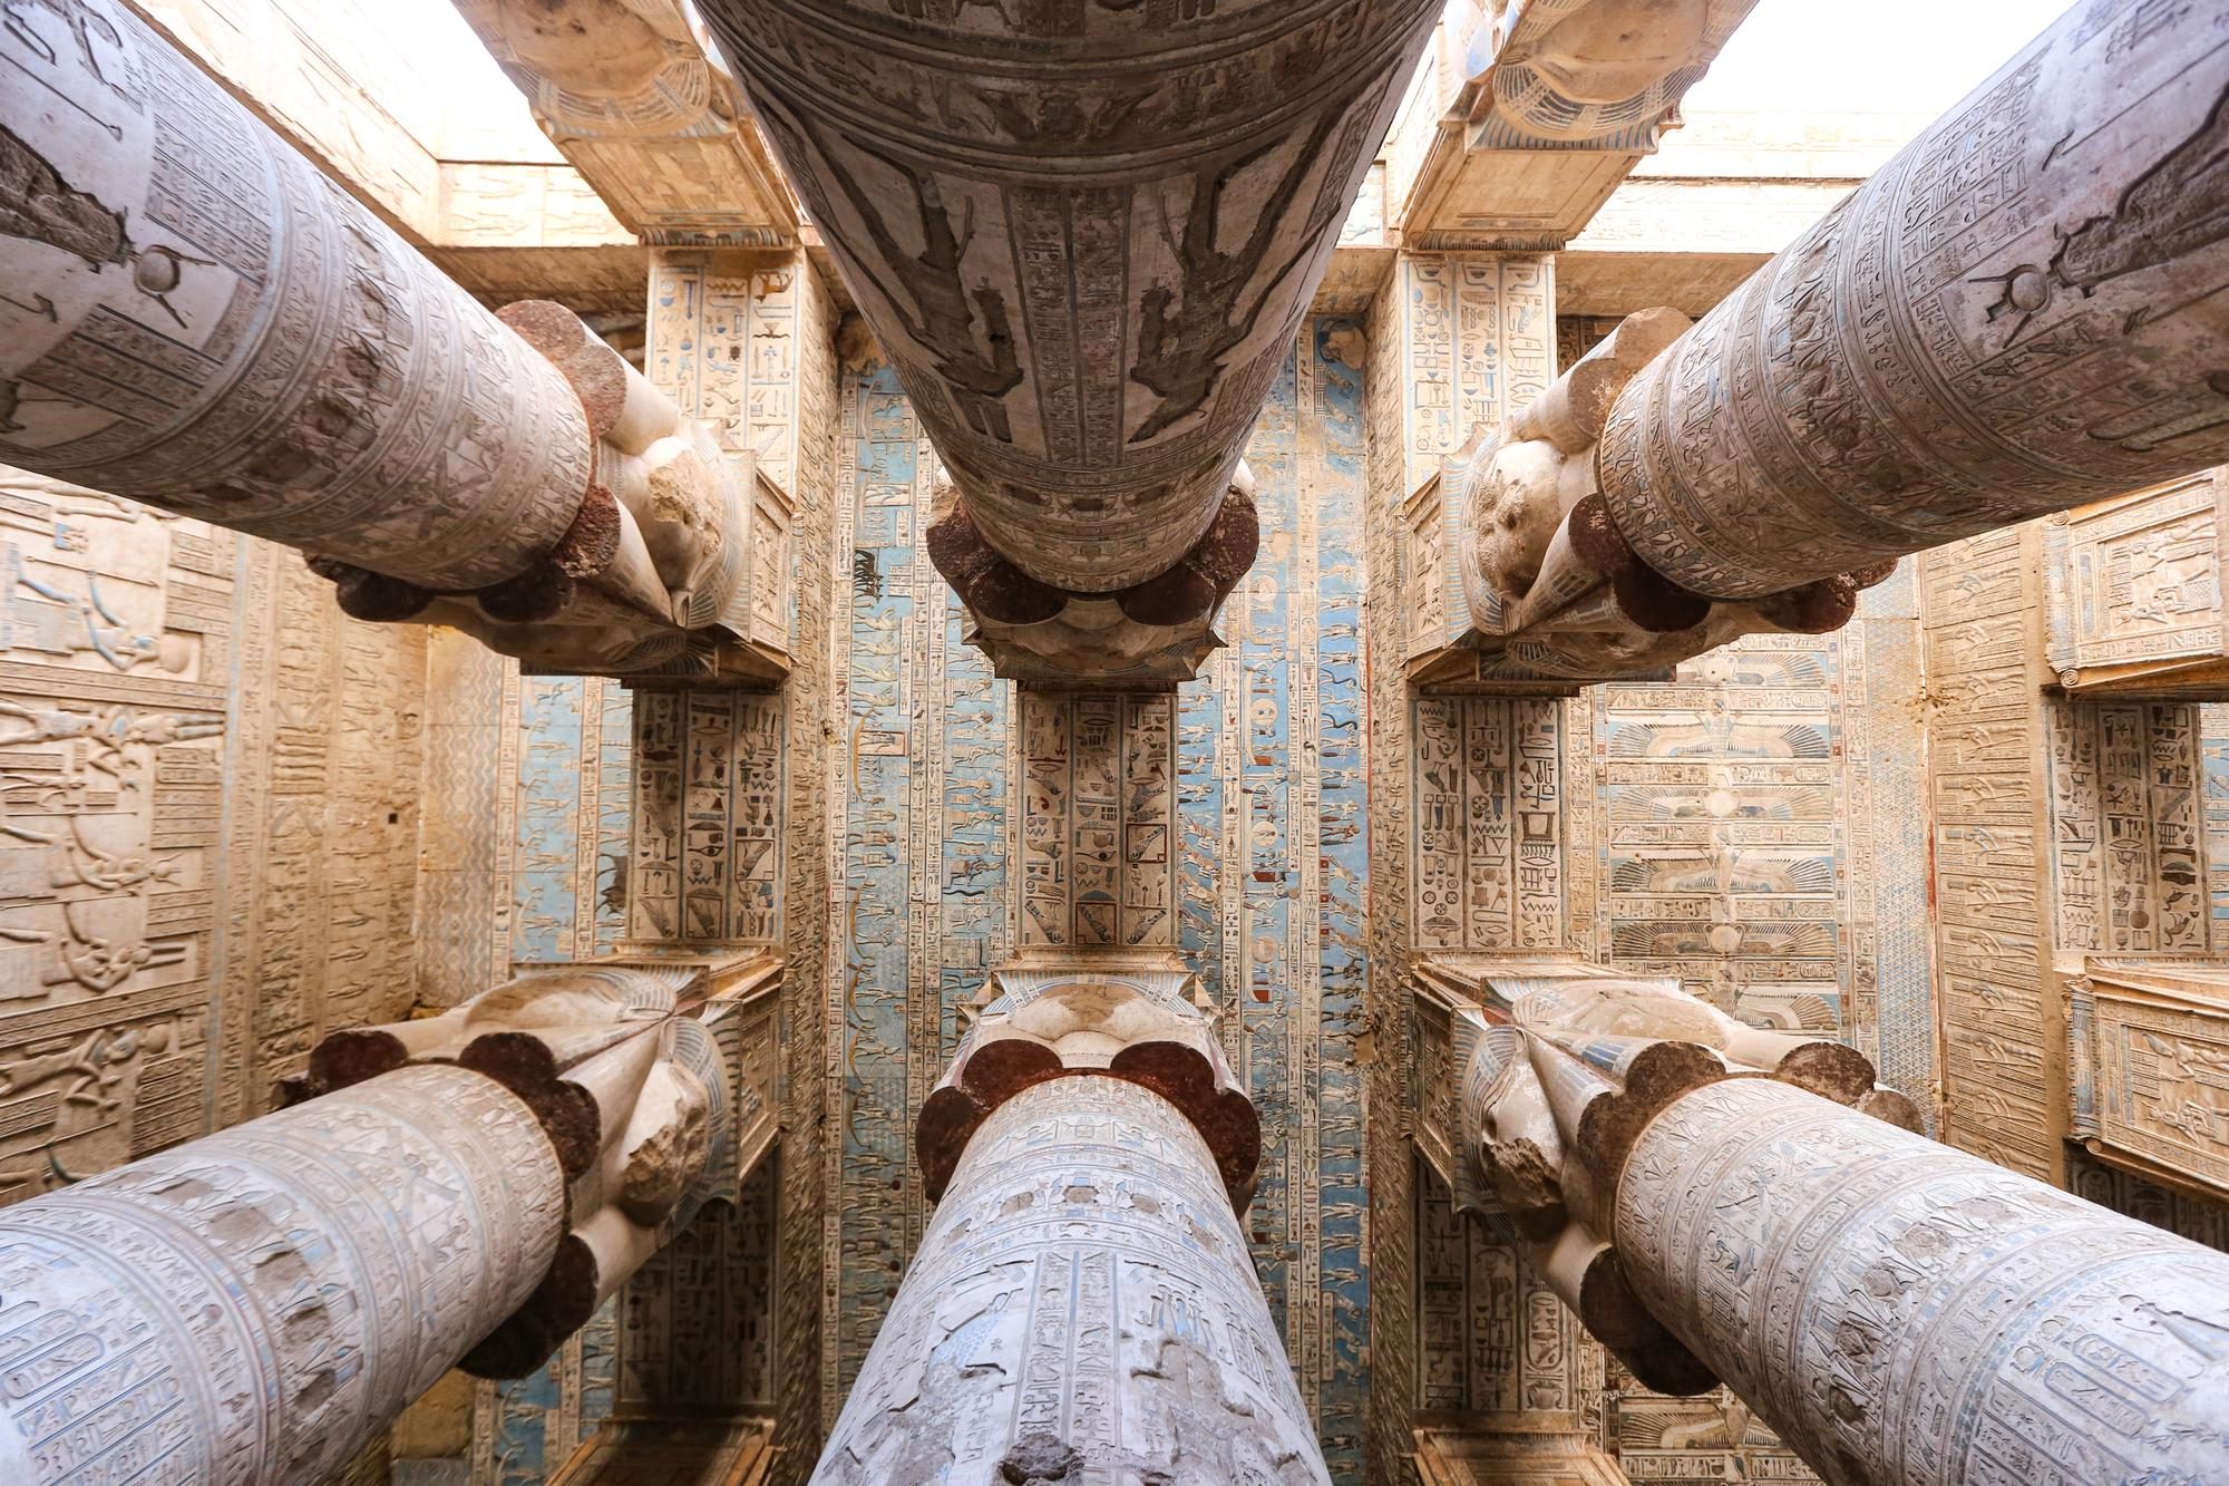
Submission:
[[[751,500],[555,303],[475,303],[123,7],[0,33],[0,460],[310,556],[359,618],[644,674],[749,627]]]

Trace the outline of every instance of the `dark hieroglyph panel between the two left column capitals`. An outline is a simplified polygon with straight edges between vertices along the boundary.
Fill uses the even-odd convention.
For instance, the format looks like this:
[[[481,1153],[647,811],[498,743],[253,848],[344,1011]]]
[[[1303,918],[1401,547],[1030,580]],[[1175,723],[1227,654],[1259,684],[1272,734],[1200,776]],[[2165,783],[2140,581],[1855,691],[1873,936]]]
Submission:
[[[780,698],[635,694],[629,939],[780,942],[785,736]]]

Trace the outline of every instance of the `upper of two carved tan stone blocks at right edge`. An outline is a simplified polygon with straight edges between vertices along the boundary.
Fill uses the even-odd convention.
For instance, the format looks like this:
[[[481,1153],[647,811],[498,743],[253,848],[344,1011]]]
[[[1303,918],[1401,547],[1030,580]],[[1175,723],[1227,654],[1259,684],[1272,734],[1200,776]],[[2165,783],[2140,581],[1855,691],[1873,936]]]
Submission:
[[[2066,696],[2229,698],[2229,471],[2053,515],[2044,654]]]

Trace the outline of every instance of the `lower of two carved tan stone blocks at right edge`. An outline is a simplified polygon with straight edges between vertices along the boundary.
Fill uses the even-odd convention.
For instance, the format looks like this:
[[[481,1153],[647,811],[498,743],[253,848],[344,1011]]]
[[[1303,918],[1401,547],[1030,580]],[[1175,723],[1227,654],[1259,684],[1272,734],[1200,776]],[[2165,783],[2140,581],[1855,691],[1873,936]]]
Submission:
[[[2229,968],[2091,955],[2066,991],[2069,1133],[2124,1171],[2229,1200]]]

